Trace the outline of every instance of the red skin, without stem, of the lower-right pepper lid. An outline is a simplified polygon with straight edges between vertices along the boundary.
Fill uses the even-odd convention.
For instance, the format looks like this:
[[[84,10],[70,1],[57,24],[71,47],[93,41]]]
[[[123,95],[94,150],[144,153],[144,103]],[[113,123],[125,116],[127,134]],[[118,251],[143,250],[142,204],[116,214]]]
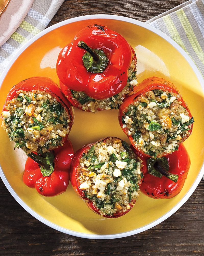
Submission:
[[[143,194],[159,199],[172,198],[180,193],[190,168],[190,157],[183,144],[180,145],[178,151],[165,156],[168,159],[169,172],[179,176],[176,183],[165,176],[159,178],[149,174],[147,168],[148,157],[138,152],[137,155],[143,161],[144,178],[140,186],[140,191]]]

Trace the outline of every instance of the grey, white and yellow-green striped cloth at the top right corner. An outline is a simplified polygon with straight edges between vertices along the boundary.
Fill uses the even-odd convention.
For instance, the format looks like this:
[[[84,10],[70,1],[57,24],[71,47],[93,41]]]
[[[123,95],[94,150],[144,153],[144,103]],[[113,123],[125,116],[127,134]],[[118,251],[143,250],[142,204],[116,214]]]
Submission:
[[[204,0],[187,1],[146,23],[177,42],[204,78]]]

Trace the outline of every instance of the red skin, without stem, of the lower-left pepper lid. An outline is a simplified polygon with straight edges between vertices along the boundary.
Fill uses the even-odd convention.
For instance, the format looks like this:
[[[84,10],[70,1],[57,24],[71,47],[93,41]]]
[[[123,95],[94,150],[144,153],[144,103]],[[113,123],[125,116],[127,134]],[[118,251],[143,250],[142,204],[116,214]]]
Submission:
[[[49,176],[43,176],[39,164],[28,157],[25,163],[23,182],[30,188],[35,188],[42,196],[57,196],[66,191],[69,185],[69,170],[74,155],[70,140],[63,147],[54,151],[54,171]]]

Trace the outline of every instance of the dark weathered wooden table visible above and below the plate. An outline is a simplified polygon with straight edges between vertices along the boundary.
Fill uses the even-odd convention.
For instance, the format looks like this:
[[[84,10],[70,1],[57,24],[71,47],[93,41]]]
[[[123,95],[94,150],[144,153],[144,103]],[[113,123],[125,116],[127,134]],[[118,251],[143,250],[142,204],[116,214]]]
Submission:
[[[37,1],[37,0],[35,0]],[[88,14],[114,14],[146,20],[183,0],[67,0],[48,26]],[[0,255],[204,255],[204,181],[170,218],[134,236],[89,240],[56,231],[32,217],[0,180]]]

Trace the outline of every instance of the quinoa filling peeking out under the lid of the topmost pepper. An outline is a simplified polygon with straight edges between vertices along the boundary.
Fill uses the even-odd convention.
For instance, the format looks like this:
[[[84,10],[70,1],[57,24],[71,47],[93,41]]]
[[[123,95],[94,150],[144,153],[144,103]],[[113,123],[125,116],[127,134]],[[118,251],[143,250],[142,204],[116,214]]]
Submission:
[[[95,100],[87,96],[84,92],[78,92],[70,90],[72,97],[78,101],[80,108],[84,111],[97,112],[98,109],[101,110],[110,110],[118,109],[123,103],[124,98],[127,94],[133,91],[133,87],[137,85],[137,74],[135,70],[136,60],[133,60],[131,66],[128,70],[128,80],[126,86],[121,92],[116,95],[113,95],[110,98],[105,100]]]

